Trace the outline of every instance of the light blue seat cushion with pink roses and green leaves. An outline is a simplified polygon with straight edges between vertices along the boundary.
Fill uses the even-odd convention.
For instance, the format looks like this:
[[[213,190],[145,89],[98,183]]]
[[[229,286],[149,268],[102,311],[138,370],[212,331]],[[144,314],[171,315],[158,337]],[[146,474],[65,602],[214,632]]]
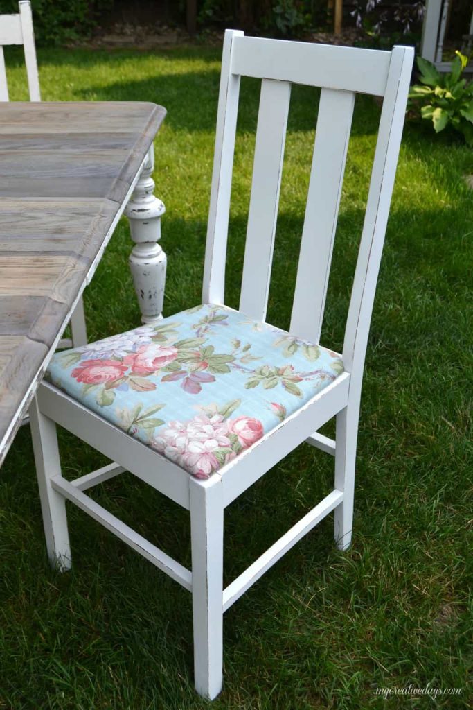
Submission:
[[[341,373],[337,353],[200,305],[57,353],[46,378],[205,479]]]

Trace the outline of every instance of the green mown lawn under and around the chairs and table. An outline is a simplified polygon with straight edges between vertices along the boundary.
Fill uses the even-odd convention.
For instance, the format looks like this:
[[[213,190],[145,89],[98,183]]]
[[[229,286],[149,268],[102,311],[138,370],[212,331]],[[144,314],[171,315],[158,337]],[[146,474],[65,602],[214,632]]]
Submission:
[[[51,50],[39,54],[47,100],[145,100],[168,116],[156,146],[167,213],[165,315],[196,305],[211,179],[219,52]],[[11,97],[24,98],[19,55]],[[238,304],[258,87],[242,85],[228,258]],[[296,87],[289,119],[269,322],[289,324],[317,94]],[[379,108],[357,99],[322,342],[341,347]],[[335,550],[330,518],[226,614],[224,690],[213,708],[467,708],[471,598],[472,152],[408,125],[367,351],[357,457],[355,535]],[[87,289],[90,339],[139,322],[121,222]],[[103,459],[61,436],[66,476]],[[333,460],[308,445],[226,511],[232,579],[328,490]],[[183,510],[129,474],[96,500],[189,564]],[[192,680],[191,603],[77,508],[74,569],[48,567],[28,427],[0,477],[0,708],[202,709]],[[471,528],[471,522],[470,522]],[[471,562],[471,558],[470,558]],[[391,696],[377,687],[462,689]]]

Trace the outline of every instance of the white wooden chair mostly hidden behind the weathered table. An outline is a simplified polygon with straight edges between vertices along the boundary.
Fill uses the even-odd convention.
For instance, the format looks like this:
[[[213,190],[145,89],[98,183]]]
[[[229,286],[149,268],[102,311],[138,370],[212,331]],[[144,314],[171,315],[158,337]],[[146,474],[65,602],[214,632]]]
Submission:
[[[28,0],[21,0],[18,3],[18,9],[18,15],[0,15],[0,102],[9,101],[4,58],[4,46],[6,45],[23,45],[30,101],[41,100],[31,4]],[[70,323],[72,340],[64,338],[59,346],[70,347],[73,345],[77,347],[85,345],[87,343],[87,329],[82,298],[77,303]]]

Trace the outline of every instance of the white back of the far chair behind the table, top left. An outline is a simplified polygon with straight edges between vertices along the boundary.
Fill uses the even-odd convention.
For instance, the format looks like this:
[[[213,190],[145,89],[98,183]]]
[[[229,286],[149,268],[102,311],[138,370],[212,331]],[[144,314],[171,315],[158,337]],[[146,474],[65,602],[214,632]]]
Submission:
[[[40,81],[38,63],[36,62],[31,4],[27,0],[21,0],[18,7],[20,10],[18,15],[0,15],[0,101],[9,100],[4,59],[4,46],[6,45],[23,45],[30,101],[40,101]]]

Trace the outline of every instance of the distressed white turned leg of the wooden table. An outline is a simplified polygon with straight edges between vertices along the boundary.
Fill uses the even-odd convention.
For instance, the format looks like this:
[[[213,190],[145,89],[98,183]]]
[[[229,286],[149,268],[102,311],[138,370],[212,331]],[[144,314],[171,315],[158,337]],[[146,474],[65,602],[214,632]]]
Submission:
[[[135,242],[130,254],[130,270],[143,323],[162,318],[165,295],[166,254],[157,241],[161,238],[161,216],[165,206],[153,194],[155,181],[153,146],[150,147],[135,191],[125,208],[130,222],[131,239]]]

